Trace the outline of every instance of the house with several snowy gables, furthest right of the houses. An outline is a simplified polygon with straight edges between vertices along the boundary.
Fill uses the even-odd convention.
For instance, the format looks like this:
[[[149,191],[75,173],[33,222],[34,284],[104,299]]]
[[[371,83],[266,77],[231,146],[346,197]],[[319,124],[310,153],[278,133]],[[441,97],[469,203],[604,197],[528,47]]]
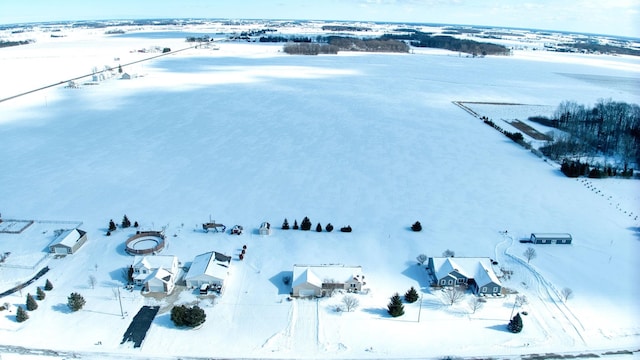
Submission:
[[[427,271],[438,286],[469,286],[477,295],[498,295],[502,284],[489,258],[431,257]]]

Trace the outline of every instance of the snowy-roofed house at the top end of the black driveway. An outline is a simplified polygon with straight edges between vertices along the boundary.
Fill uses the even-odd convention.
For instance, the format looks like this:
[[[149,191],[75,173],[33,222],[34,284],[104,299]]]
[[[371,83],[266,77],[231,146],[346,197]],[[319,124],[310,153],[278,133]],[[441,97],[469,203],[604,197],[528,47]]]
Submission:
[[[148,292],[173,291],[178,276],[178,257],[173,255],[136,256],[133,259],[133,283]]]

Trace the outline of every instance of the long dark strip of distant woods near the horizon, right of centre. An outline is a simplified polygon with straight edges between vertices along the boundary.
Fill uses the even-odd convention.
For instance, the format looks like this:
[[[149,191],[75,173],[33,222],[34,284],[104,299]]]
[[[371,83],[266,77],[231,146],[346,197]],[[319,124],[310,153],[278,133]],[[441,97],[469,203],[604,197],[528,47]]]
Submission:
[[[382,39],[408,41],[411,46],[429,47],[458,51],[473,56],[509,55],[511,51],[498,44],[483,43],[473,40],[458,39],[446,35],[433,35],[413,29],[404,29],[402,34],[385,34]]]

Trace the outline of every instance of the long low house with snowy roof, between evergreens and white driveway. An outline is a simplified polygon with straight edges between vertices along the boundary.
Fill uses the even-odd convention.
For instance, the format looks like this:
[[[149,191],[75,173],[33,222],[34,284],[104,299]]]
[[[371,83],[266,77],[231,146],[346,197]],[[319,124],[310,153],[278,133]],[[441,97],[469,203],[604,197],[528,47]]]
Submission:
[[[361,266],[293,265],[292,296],[326,296],[334,290],[356,292],[364,285]]]

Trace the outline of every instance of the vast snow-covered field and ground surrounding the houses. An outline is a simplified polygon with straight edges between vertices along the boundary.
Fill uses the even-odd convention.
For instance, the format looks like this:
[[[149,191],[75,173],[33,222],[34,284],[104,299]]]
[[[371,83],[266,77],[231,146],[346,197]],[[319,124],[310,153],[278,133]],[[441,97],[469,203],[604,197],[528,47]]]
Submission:
[[[150,56],[134,49],[188,46],[180,37],[145,32],[67,35],[0,49],[0,78],[9,79],[0,98]],[[24,357],[6,346],[82,358],[335,359],[640,348],[640,290],[632,276],[639,265],[640,183],[566,178],[452,103],[547,110],[564,100],[640,103],[636,58],[524,51],[466,58],[418,49],[303,57],[280,49],[219,43],[219,50],[125,66],[138,75],[131,80],[79,89],[62,84],[0,103],[2,217],[82,221],[89,235],[77,254],[47,260],[45,278],[54,289],[29,320],[17,323],[14,306],[24,305],[44,278],[0,298],[12,305],[12,313],[0,312],[2,359]],[[584,80],[593,76],[628,81]],[[492,111],[486,115],[496,120],[502,114]],[[530,115],[538,114],[521,120]],[[163,254],[183,265],[206,251],[233,255],[224,295],[200,302],[207,314],[201,328],[177,329],[168,300],[123,289],[122,269],[132,261],[124,242],[134,230],[105,233],[109,219],[118,223],[124,214],[142,229],[164,227]],[[304,216],[313,228],[330,222],[353,232],[280,230],[284,218],[292,224]],[[203,233],[210,217],[246,231]],[[262,221],[274,226],[273,235],[258,235]],[[422,232],[409,230],[415,221]],[[46,241],[29,246],[29,237],[47,238],[54,229],[35,230],[19,244],[16,235],[0,233],[0,253],[43,255]],[[518,240],[531,232],[568,232],[574,243],[536,246],[527,264],[527,245]],[[243,245],[247,255],[239,261]],[[444,305],[415,258],[446,249],[513,270],[504,285],[529,300],[519,309],[528,312],[522,333],[506,331],[513,295],[488,299],[476,313],[470,294]],[[357,295],[360,306],[351,313],[334,310],[342,295],[287,301],[282,277],[305,263],[362,265],[369,292]],[[0,267],[0,292],[36,271]],[[420,289],[421,302],[389,317],[389,298],[411,286]],[[564,287],[574,293],[567,302],[559,296]],[[124,318],[115,288],[123,294]],[[87,299],[77,313],[66,307],[73,291]],[[191,291],[174,298],[197,301]],[[143,346],[121,345],[145,304],[162,309]]]

